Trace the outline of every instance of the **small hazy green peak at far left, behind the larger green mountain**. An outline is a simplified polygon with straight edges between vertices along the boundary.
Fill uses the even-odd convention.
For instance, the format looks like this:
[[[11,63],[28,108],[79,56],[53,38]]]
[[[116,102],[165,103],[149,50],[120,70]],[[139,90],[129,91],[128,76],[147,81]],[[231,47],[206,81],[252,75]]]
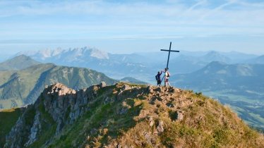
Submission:
[[[37,64],[40,62],[22,54],[0,63],[0,70],[21,70]]]

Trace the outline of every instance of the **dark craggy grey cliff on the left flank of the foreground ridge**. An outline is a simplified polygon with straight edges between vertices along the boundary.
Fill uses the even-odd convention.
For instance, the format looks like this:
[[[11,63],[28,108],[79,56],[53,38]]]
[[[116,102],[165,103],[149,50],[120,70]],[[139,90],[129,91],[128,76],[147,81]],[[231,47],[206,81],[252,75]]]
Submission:
[[[78,91],[61,83],[46,87],[6,136],[5,147],[28,147],[38,140],[42,130],[46,130],[42,125],[56,125],[54,134],[59,135],[65,125],[72,124],[88,111],[87,104],[95,99],[97,90],[106,86],[105,82],[101,82]]]

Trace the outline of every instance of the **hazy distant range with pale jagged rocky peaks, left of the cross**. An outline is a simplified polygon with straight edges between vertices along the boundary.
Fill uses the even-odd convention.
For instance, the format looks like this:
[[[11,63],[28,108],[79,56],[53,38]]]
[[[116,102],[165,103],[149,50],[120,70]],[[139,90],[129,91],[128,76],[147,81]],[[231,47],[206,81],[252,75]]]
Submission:
[[[61,66],[77,66],[91,68],[105,73],[113,78],[124,78],[127,75],[146,73],[148,70],[139,55],[109,54],[88,47],[76,49],[55,49],[43,51],[27,51],[16,54],[25,54],[42,63],[56,63]]]

